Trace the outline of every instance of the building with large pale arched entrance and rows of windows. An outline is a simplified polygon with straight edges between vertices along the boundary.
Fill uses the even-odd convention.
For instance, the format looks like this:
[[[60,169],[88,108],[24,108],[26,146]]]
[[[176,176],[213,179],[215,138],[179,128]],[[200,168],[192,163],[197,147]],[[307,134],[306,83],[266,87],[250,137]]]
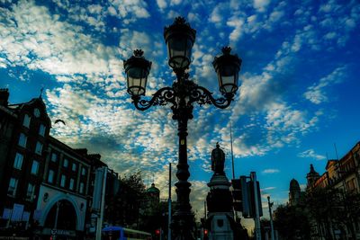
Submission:
[[[88,155],[85,148],[68,147],[52,137],[48,138],[48,153],[35,210],[34,234],[50,236],[51,230],[57,229],[58,236],[84,237],[93,199],[91,170],[100,157]]]

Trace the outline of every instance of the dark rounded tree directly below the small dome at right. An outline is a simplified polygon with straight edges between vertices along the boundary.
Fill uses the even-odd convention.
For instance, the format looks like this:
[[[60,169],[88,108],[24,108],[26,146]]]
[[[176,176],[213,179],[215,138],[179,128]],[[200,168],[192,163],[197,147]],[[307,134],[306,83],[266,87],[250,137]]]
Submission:
[[[274,224],[279,235],[285,240],[311,239],[310,223],[303,206],[277,207],[274,212]]]

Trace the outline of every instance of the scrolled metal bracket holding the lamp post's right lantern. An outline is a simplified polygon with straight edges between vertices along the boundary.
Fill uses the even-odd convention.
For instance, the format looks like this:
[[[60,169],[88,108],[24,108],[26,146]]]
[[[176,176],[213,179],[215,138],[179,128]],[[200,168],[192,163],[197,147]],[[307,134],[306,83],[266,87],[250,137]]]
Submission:
[[[234,94],[230,93],[225,97],[215,99],[212,97],[212,93],[209,90],[202,86],[196,85],[191,90],[189,104],[193,102],[197,102],[199,105],[212,103],[214,106],[220,109],[225,109],[229,107],[229,104],[232,102],[232,100],[234,100],[233,97]]]

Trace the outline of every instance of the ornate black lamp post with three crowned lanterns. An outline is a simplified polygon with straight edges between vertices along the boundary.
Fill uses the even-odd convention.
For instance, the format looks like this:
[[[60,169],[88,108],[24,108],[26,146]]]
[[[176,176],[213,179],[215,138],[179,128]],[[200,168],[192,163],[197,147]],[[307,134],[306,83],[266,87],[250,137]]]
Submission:
[[[173,68],[176,80],[172,86],[166,86],[154,93],[149,100],[141,99],[146,92],[146,84],[151,62],[143,57],[143,51],[137,49],[134,55],[124,61],[124,68],[128,82],[128,93],[135,107],[145,111],[151,106],[171,104],[173,120],[177,120],[179,137],[179,159],[177,163],[175,183],[178,208],[174,215],[173,234],[175,239],[194,239],[193,214],[189,200],[190,182],[187,182],[190,173],[187,164],[187,121],[193,119],[193,102],[198,104],[213,104],[225,109],[233,101],[238,90],[238,72],[241,59],[230,54],[230,48],[222,49],[222,55],[215,57],[213,67],[218,76],[220,93],[222,97],[214,98],[206,88],[193,83],[185,70],[191,62],[191,52],[195,33],[184,18],[177,17],[175,22],[165,28],[164,38],[167,46],[168,65]]]

